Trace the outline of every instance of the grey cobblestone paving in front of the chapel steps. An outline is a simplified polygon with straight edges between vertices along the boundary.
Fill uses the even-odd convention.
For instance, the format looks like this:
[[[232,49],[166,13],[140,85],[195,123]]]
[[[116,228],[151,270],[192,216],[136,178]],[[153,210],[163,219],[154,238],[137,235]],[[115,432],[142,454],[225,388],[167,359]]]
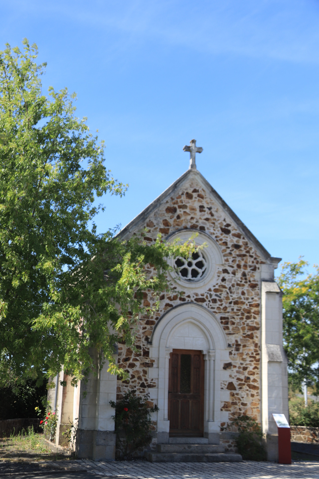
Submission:
[[[137,479],[319,479],[319,462],[150,463],[77,460],[88,472]]]

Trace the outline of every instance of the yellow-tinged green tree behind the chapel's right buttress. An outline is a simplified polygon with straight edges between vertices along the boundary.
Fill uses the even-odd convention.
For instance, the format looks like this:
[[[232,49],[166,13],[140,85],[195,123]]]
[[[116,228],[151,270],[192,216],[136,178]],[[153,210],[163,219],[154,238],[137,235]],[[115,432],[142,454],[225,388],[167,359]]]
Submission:
[[[278,278],[283,295],[284,348],[293,389],[306,380],[319,393],[319,268],[304,275],[308,262],[286,262]]]

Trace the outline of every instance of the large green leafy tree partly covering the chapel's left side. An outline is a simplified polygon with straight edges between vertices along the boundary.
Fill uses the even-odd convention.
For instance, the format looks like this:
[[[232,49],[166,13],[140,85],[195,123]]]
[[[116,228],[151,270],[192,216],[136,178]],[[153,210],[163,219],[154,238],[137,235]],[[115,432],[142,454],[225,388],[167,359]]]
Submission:
[[[125,378],[114,343],[133,345],[139,318],[152,314],[143,291],[167,290],[167,258],[194,245],[97,234],[96,199],[127,186],[75,116],[75,95],[43,94],[36,57],[26,39],[23,51],[0,52],[0,381],[41,382],[63,366],[76,384],[96,368],[92,349],[99,367],[108,359]]]

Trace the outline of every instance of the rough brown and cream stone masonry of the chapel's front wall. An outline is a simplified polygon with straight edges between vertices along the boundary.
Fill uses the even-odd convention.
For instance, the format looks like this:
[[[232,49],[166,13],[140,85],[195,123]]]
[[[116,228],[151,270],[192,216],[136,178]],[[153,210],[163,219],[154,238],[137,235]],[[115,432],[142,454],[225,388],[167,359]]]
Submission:
[[[118,398],[127,389],[144,394],[157,387],[157,379],[147,379],[148,368],[158,367],[154,359],[149,359],[148,341],[154,325],[173,306],[195,302],[208,308],[219,319],[231,347],[230,359],[223,365],[223,369],[229,371],[229,380],[221,384],[222,389],[229,390],[230,397],[222,404],[221,410],[229,411],[230,421],[234,416],[248,414],[260,422],[261,257],[194,178],[188,179],[138,229],[144,227],[148,228],[144,239],[150,244],[156,240],[158,233],[165,238],[183,228],[205,231],[219,244],[224,265],[219,267],[214,283],[206,285],[203,290],[187,292],[184,296],[172,293],[160,297],[158,312],[140,320],[136,337],[138,353],[120,345],[119,364],[130,373],[130,379],[118,381]],[[149,273],[152,273],[151,270]],[[145,292],[144,305],[149,306],[153,302],[152,293]],[[223,426],[226,426],[224,422],[221,423]]]

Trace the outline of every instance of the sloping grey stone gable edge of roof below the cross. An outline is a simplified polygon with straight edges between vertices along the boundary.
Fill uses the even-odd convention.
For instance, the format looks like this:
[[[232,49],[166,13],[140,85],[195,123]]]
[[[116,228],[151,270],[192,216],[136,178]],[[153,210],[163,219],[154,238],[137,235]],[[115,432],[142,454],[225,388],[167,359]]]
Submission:
[[[143,211],[137,215],[135,218],[130,221],[116,236],[120,239],[125,239],[136,230],[141,223],[144,223],[147,217],[153,211],[165,201],[167,197],[171,195],[171,193],[179,186],[181,186],[187,178],[192,175],[195,176],[198,182],[200,182],[204,188],[208,191],[208,193],[216,200],[217,203],[220,204],[221,208],[231,217],[234,221],[236,226],[242,230],[243,235],[250,239],[253,243],[255,248],[260,251],[262,256],[264,256],[265,260],[270,260],[271,262],[279,262],[281,258],[273,258],[271,254],[264,248],[264,246],[258,241],[258,239],[253,235],[253,233],[243,224],[243,222],[239,219],[239,217],[232,211],[231,207],[227,205],[227,203],[222,199],[222,197],[217,193],[216,190],[209,184],[209,182],[204,178],[204,176],[195,169],[190,169],[185,171],[174,183],[172,183],[162,194],[157,196],[157,198],[150,203]]]

